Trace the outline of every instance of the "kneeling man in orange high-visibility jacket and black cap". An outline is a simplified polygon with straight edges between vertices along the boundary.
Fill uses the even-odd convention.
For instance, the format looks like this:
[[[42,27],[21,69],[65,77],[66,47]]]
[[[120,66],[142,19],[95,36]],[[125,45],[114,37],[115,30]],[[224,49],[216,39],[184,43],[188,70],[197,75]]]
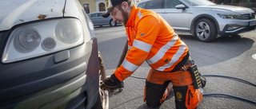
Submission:
[[[146,60],[151,67],[144,97],[148,106],[161,106],[171,82],[176,108],[198,107],[202,88],[194,89],[190,71],[187,70],[194,61],[174,29],[154,11],[138,8],[130,0],[106,0],[106,4],[107,11],[102,17],[112,15],[114,21],[122,22],[126,27],[129,51],[122,65],[102,84],[102,89],[111,91],[122,88],[122,81]]]

